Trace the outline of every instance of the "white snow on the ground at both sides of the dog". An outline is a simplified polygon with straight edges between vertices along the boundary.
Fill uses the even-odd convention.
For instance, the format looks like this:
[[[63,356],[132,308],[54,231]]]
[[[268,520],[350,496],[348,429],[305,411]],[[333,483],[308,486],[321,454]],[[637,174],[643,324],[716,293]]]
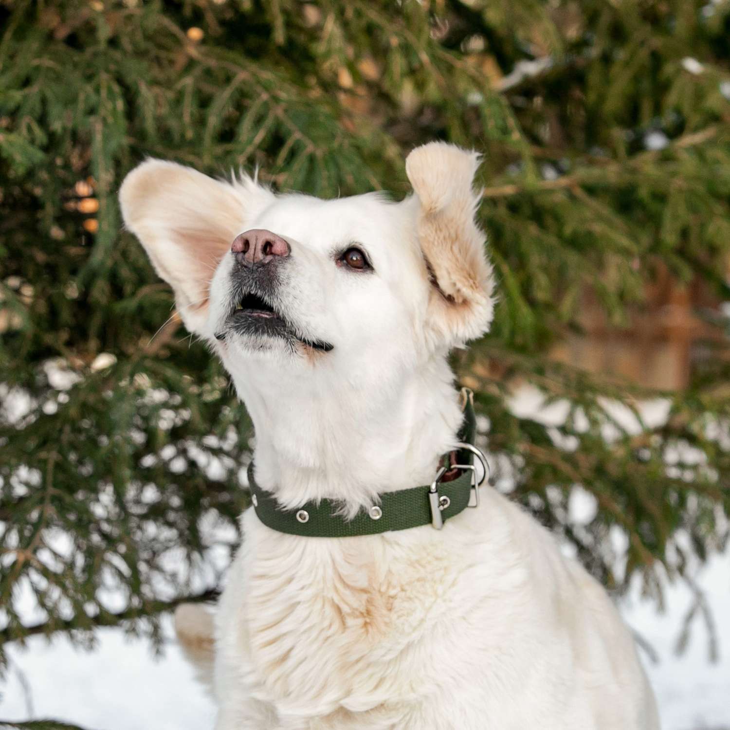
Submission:
[[[730,550],[712,558],[697,583],[707,593],[717,625],[716,664],[708,661],[707,633],[699,622],[686,653],[675,656],[680,623],[692,600],[687,588],[667,588],[664,615],[642,602],[637,590],[622,606],[626,621],[658,655],[658,664],[645,664],[664,730],[730,730]],[[155,730],[212,728],[212,702],[172,641],[172,622],[166,620],[165,628],[171,640],[161,658],[145,641],[126,639],[118,629],[101,629],[91,653],[72,648],[62,637],[50,643],[34,637],[26,650],[11,647],[14,669],[0,684],[0,718],[55,718],[90,730],[140,730],[153,718]]]

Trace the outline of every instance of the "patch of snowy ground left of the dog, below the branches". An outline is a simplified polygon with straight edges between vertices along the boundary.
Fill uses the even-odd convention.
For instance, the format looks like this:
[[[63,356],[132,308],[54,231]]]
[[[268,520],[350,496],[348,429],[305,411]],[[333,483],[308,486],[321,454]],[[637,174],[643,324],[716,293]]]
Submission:
[[[172,620],[165,624],[170,642],[161,657],[120,629],[100,629],[91,652],[66,637],[32,637],[26,650],[11,647],[0,717],[53,718],[96,730],[139,730],[152,718],[155,730],[212,728],[212,700],[172,642]]]

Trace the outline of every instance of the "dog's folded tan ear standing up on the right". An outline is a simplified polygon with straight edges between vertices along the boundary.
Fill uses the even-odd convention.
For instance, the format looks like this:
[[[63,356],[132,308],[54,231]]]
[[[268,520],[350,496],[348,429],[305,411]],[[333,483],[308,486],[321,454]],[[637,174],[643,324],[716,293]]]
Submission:
[[[493,316],[492,269],[475,221],[479,155],[444,142],[416,147],[406,173],[418,199],[416,227],[431,285],[428,323],[437,344],[480,337]]]

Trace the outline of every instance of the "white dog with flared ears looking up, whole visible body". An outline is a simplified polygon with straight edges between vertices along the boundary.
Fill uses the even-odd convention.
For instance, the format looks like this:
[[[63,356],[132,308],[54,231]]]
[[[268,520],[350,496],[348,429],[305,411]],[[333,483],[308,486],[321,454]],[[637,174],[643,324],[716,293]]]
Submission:
[[[456,447],[446,356],[493,311],[476,168],[475,153],[419,147],[399,203],[276,195],[157,160],[123,184],[126,225],[255,426],[261,499],[218,611],[177,616],[213,665],[218,730],[658,727],[603,588],[493,489],[443,529],[306,531],[323,504],[345,532],[391,518],[391,493],[431,485]],[[444,496],[434,511],[428,492],[436,525]]]

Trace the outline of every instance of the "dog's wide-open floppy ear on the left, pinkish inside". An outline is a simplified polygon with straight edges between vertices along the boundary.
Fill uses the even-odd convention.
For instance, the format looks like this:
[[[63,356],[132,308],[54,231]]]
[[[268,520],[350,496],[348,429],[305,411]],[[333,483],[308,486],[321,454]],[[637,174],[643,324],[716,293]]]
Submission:
[[[250,177],[226,183],[150,159],[127,175],[119,199],[127,228],[172,286],[185,326],[201,331],[216,266],[274,193]]]

